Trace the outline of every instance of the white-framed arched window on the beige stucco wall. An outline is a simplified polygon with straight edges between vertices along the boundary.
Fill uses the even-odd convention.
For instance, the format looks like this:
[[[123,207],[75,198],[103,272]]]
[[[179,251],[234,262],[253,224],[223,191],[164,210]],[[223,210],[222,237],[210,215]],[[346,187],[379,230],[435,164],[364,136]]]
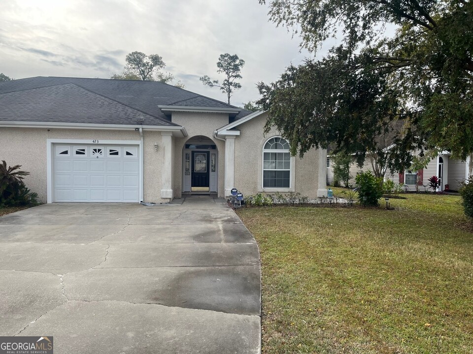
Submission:
[[[289,188],[290,182],[289,143],[281,137],[273,137],[263,148],[263,188]]]

